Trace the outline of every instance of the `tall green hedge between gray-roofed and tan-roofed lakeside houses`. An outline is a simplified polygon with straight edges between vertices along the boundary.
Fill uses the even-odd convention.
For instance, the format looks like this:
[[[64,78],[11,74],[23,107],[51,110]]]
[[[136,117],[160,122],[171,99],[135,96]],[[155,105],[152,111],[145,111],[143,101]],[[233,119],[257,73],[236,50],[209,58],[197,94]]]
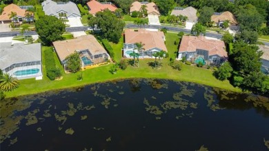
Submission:
[[[45,66],[47,70],[47,76],[50,80],[54,80],[57,77],[61,77],[61,71],[56,68],[54,60],[54,54],[52,48],[44,50]]]

